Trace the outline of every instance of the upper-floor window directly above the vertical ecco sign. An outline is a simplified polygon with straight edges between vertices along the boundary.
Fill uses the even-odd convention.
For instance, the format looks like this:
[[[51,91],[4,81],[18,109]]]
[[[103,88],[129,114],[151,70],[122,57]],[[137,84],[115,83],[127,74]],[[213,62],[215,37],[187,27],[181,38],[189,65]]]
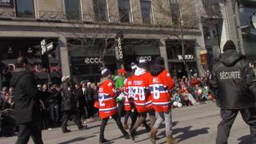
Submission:
[[[130,0],[118,0],[120,22],[131,22]]]

